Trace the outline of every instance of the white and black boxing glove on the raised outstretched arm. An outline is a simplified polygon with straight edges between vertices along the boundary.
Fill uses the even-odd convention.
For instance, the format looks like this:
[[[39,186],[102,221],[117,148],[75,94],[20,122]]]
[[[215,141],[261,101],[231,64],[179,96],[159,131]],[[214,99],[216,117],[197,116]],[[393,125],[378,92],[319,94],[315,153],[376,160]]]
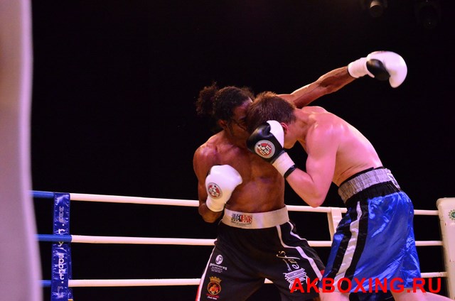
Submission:
[[[375,51],[366,58],[350,62],[348,72],[355,78],[369,75],[378,80],[389,80],[390,86],[396,88],[405,81],[407,66],[405,60],[397,53]]]

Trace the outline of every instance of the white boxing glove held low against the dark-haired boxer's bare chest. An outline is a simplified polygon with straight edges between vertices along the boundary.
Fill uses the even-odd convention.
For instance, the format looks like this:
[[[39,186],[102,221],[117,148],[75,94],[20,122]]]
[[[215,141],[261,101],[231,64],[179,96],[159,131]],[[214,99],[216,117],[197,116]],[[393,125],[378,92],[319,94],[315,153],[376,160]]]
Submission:
[[[205,178],[205,189],[208,194],[205,205],[213,212],[222,211],[232,191],[240,184],[242,184],[242,177],[232,166],[213,166]]]

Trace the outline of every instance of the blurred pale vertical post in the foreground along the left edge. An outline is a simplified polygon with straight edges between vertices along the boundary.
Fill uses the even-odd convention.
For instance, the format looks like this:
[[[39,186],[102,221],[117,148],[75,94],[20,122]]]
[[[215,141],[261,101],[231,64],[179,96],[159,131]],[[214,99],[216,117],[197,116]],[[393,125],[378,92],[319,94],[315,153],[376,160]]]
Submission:
[[[0,298],[42,300],[30,160],[31,3],[0,0]]]

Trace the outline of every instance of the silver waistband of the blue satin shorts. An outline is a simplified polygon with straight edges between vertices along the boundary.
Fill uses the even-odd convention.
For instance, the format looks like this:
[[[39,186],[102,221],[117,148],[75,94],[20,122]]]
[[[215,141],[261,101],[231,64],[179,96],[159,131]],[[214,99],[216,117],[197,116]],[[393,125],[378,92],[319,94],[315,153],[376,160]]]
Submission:
[[[380,168],[375,170],[370,170],[366,173],[362,173],[353,179],[344,182],[338,188],[338,195],[340,195],[343,202],[352,197],[353,195],[365,190],[366,188],[373,186],[375,184],[384,183],[384,182],[392,182],[398,189],[400,189],[400,185],[398,185],[397,180],[393,177],[390,170],[387,168]]]

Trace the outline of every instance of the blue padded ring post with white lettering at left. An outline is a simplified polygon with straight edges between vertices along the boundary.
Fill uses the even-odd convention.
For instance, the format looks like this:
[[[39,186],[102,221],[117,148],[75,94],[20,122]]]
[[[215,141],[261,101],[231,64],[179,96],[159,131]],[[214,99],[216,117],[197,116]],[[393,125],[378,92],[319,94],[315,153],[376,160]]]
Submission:
[[[70,194],[54,195],[53,234],[70,234]],[[50,280],[50,300],[73,300],[68,280],[71,277],[71,248],[69,242],[58,241],[52,244],[52,276]]]

